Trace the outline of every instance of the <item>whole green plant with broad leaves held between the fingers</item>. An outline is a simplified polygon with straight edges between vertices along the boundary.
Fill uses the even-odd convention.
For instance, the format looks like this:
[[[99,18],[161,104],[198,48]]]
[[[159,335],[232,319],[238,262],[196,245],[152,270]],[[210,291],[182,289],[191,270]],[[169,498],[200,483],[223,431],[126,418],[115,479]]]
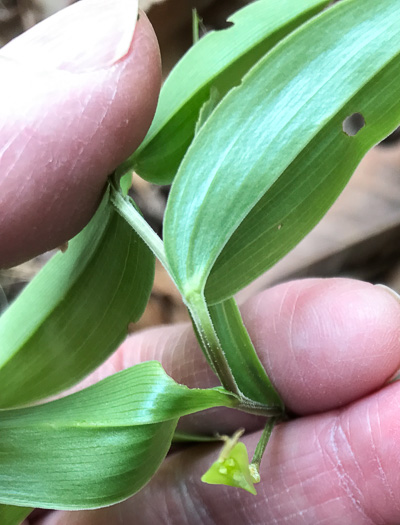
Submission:
[[[121,501],[157,470],[179,418],[216,406],[267,419],[250,466],[243,446],[228,440],[204,478],[254,491],[285,410],[233,295],[320,220],[366,151],[400,122],[400,5],[328,4],[258,0],[193,46],[91,223],[1,317],[1,523],[17,523],[28,506]],[[365,126],[349,136],[343,122],[355,113]],[[172,182],[164,242],[126,196],[132,169]],[[145,308],[154,255],[222,386],[190,390],[149,362],[26,407],[73,385],[117,347]]]

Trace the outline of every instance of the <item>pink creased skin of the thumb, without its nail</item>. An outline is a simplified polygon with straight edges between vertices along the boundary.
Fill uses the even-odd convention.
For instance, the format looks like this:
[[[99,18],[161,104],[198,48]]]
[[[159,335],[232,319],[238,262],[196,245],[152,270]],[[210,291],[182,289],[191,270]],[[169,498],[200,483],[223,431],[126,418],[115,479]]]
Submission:
[[[0,68],[8,101],[0,117],[0,267],[8,267],[89,221],[108,175],[151,123],[161,75],[144,14],[128,53],[107,67],[37,72],[7,57]]]

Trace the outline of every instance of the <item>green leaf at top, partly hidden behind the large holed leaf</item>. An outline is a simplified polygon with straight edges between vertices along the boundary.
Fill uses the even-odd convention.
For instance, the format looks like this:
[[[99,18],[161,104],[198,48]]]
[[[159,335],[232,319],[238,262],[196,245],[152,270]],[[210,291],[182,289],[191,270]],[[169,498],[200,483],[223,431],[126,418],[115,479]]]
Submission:
[[[229,29],[210,32],[167,78],[151,128],[136,153],[119,169],[135,169],[151,182],[168,184],[194,136],[210,89],[221,96],[277,42],[321,11],[329,0],[259,0],[229,18]]]

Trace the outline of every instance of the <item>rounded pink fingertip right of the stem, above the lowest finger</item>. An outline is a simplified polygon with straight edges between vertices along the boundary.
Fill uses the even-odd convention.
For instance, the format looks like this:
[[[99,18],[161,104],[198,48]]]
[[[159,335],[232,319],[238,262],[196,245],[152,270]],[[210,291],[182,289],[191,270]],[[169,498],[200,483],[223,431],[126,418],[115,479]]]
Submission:
[[[400,307],[351,279],[308,279],[251,299],[244,318],[286,406],[309,414],[381,387],[400,365]]]

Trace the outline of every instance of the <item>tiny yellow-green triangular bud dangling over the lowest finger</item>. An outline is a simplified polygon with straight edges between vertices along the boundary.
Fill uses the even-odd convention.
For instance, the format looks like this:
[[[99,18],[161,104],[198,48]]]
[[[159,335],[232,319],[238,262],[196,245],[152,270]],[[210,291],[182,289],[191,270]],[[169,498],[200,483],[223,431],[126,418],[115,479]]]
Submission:
[[[257,495],[254,483],[259,482],[260,477],[253,477],[246,445],[239,442],[243,432],[244,429],[240,429],[231,438],[221,436],[225,444],[217,461],[202,476],[201,481],[210,485],[237,487]]]

